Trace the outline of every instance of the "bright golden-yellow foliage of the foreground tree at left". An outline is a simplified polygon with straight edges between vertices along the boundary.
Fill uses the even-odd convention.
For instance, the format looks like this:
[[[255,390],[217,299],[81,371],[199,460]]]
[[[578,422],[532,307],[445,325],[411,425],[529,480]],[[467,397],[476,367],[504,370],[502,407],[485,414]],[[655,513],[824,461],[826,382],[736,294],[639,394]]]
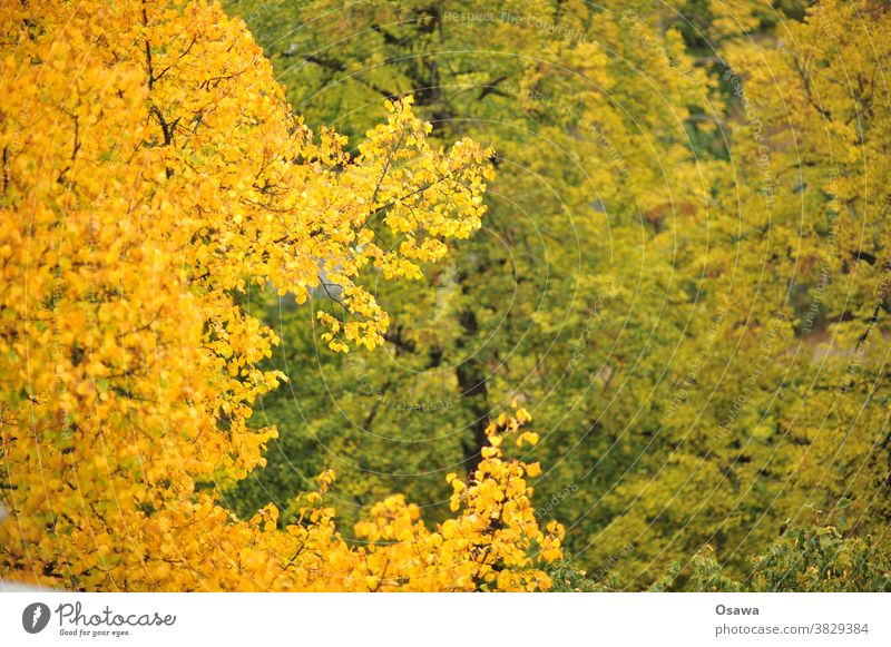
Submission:
[[[415,278],[480,226],[489,151],[432,149],[411,101],[354,155],[294,117],[217,4],[0,8],[0,525],[3,577],[81,590],[547,587],[559,553],[496,451],[435,531],[400,497],[349,545],[322,504],[251,522],[212,486],[264,463],[246,421],[283,379],[251,284],[325,281],[334,350],[381,343],[363,268]],[[379,233],[383,231],[382,237]],[[497,437],[492,437],[493,439]],[[495,441],[497,443],[497,441]],[[497,445],[496,445],[497,447]],[[284,527],[282,530],[280,527]]]

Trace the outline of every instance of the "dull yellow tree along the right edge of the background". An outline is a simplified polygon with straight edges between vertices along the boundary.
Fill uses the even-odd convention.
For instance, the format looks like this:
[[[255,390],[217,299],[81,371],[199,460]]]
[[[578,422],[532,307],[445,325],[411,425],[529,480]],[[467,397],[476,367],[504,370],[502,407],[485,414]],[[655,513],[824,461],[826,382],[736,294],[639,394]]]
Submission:
[[[741,159],[771,160],[771,229],[789,249],[773,266],[802,302],[786,361],[797,379],[776,408],[796,478],[776,507],[795,522],[843,516],[850,535],[879,538],[891,518],[890,28],[888,3],[826,0],[782,22],[768,47],[727,50],[756,117],[738,129]]]

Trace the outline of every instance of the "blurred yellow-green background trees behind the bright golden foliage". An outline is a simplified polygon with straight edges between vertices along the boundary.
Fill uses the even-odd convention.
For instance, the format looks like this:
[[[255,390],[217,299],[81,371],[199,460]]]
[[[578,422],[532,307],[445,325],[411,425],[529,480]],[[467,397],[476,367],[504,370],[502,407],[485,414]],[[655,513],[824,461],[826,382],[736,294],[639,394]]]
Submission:
[[[310,317],[264,305],[277,365],[323,380],[264,399],[306,427],[237,497],[300,487],[298,457],[356,476],[355,514],[393,481],[444,501],[437,472],[472,471],[519,398],[574,563],[621,555],[623,588],[705,545],[744,577],[843,499],[887,541],[881,3],[232,4],[311,121],[413,91],[499,168],[491,235],[380,292],[386,361],[314,353]]]

